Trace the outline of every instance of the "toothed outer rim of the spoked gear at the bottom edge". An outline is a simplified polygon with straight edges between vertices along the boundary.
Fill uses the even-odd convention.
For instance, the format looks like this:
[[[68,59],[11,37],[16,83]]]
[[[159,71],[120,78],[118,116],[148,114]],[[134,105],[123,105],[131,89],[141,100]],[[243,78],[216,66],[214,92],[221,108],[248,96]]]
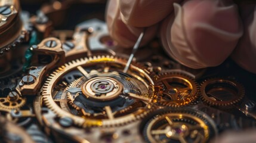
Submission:
[[[168,114],[168,115],[167,115]],[[182,114],[182,117],[174,118],[174,114]],[[215,125],[214,121],[211,119],[211,117],[207,116],[202,111],[198,111],[192,108],[162,108],[160,110],[154,111],[149,117],[146,117],[146,120],[143,121],[141,127],[141,132],[143,133],[143,136],[146,140],[146,142],[160,142],[159,140],[156,141],[153,136],[149,134],[149,131],[156,130],[158,126],[152,127],[153,125],[159,125],[158,123],[162,123],[163,119],[162,117],[168,116],[171,117],[172,122],[175,122],[177,125],[178,122],[181,122],[180,124],[183,125],[184,122],[190,123],[192,125],[196,124],[202,124],[205,125],[205,128],[208,131],[205,134],[205,142],[207,142],[209,139],[211,139],[213,136],[217,135],[217,126]],[[186,117],[186,118],[184,118]],[[200,121],[200,123],[199,123]],[[153,122],[153,123],[152,123]],[[162,124],[160,124],[162,125]],[[188,126],[189,128],[189,126]],[[149,138],[150,137],[150,138]],[[172,140],[174,141],[174,140]]]

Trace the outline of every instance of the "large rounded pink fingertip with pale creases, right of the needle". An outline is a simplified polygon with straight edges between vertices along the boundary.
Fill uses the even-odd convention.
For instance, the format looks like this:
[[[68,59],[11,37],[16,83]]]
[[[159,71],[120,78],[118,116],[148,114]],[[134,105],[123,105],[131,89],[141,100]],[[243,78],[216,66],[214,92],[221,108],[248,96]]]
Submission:
[[[229,0],[174,4],[174,14],[161,26],[161,39],[168,54],[193,69],[223,63],[242,33],[238,8]]]

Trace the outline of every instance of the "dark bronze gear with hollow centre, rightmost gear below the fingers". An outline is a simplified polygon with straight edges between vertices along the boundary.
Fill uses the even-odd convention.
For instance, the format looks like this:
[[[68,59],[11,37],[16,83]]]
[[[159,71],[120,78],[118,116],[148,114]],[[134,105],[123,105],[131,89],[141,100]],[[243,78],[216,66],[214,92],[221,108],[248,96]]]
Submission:
[[[232,107],[245,95],[243,86],[234,79],[212,78],[201,84],[201,99],[213,106]]]

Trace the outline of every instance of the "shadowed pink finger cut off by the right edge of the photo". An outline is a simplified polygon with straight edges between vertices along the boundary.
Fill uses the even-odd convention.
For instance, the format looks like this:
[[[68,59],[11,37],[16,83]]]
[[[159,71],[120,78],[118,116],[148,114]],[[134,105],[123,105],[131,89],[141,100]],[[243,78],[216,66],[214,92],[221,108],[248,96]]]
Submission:
[[[233,60],[245,70],[256,73],[256,5],[239,4],[243,20],[244,35],[232,54]]]

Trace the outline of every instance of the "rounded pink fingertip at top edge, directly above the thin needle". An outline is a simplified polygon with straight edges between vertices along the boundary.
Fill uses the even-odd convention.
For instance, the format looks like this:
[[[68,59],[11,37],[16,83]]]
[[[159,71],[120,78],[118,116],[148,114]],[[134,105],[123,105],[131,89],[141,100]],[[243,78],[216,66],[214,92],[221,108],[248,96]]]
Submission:
[[[125,24],[148,27],[163,20],[173,11],[174,2],[182,0],[126,0],[120,1],[121,17]]]

